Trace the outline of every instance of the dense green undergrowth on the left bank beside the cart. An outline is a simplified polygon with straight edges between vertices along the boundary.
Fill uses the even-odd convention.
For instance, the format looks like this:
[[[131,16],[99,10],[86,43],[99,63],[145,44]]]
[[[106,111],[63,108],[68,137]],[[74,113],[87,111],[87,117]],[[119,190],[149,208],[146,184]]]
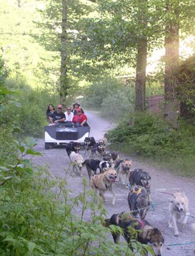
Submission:
[[[57,105],[58,97],[43,89],[33,89],[22,79],[1,77],[0,91],[0,162],[12,162],[14,139],[25,136],[43,137],[46,109]],[[4,94],[5,91],[5,94]]]

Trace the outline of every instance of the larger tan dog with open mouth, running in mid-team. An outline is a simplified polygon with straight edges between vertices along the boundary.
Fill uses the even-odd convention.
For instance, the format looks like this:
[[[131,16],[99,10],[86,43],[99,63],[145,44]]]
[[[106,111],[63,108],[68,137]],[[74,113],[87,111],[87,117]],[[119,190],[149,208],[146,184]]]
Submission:
[[[116,194],[112,188],[112,184],[115,183],[116,179],[117,172],[115,171],[115,169],[109,168],[103,174],[94,175],[93,177],[91,177],[90,184],[91,187],[94,188],[96,191],[100,191],[100,196],[104,201],[107,201],[104,197],[104,191],[108,189],[113,195],[112,204],[114,205],[116,200]]]

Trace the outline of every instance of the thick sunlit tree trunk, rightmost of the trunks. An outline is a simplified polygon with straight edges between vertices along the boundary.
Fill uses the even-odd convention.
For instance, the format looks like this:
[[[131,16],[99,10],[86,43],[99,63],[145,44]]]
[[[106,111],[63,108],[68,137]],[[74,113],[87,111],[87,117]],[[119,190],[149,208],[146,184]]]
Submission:
[[[175,71],[179,64],[179,11],[167,3],[167,12],[174,12],[175,19],[167,21],[165,28],[165,100],[176,99],[177,80]]]

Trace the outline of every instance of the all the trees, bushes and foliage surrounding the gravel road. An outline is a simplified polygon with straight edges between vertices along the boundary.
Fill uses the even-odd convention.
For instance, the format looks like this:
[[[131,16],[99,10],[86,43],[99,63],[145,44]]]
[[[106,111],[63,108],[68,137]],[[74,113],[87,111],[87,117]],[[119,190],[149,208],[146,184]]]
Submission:
[[[134,255],[105,245],[90,192],[70,200],[66,180],[31,158],[48,105],[79,101],[117,124],[112,149],[194,177],[195,1],[1,0],[0,16],[0,254]]]

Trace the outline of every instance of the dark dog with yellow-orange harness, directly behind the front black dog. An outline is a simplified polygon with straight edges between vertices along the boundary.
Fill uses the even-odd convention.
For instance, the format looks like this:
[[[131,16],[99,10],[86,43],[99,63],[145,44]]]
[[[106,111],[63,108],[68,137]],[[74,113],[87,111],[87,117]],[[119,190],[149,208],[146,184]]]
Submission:
[[[139,213],[140,218],[144,219],[150,206],[148,192],[146,189],[141,186],[132,187],[129,191],[127,200],[130,211],[132,211],[132,215],[136,217]]]

